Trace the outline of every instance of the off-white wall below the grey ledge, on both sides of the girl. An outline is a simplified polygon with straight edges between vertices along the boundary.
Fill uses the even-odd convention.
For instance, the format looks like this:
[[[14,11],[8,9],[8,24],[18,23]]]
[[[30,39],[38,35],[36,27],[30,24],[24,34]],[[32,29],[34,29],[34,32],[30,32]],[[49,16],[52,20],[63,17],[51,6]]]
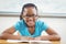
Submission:
[[[61,35],[63,44],[66,43],[66,18],[40,18],[40,20],[44,21]],[[0,16],[0,34],[16,21],[19,21],[19,16]]]

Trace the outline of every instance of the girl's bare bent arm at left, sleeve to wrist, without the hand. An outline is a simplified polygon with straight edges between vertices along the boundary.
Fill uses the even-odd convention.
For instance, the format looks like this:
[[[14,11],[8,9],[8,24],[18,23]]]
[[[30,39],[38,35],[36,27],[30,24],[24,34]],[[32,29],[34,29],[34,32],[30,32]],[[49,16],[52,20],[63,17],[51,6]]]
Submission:
[[[4,32],[2,32],[2,35],[0,35],[0,38],[1,40],[20,40],[21,36],[13,35],[14,32],[15,32],[14,28],[11,26],[7,29]]]

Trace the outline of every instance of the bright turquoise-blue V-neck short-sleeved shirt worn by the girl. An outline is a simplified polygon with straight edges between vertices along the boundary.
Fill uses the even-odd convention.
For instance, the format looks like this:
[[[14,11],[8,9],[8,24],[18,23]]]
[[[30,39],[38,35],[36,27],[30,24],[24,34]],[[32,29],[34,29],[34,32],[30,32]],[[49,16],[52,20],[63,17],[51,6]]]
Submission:
[[[14,24],[15,31],[19,31],[22,36],[31,36],[31,37],[40,36],[42,31],[46,31],[47,28],[48,26],[44,22],[36,20],[35,21],[35,32],[33,34],[31,34],[29,32],[29,29],[28,29],[24,20],[20,20],[19,22],[16,22]]]

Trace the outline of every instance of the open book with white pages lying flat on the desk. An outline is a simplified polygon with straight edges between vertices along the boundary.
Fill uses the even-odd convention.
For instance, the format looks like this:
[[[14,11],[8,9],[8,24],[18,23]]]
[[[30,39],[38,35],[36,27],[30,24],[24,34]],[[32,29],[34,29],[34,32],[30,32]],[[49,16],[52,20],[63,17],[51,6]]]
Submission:
[[[52,44],[50,41],[21,41],[21,40],[7,40],[9,43],[18,43],[18,42],[29,42],[29,43],[45,43],[45,44]]]

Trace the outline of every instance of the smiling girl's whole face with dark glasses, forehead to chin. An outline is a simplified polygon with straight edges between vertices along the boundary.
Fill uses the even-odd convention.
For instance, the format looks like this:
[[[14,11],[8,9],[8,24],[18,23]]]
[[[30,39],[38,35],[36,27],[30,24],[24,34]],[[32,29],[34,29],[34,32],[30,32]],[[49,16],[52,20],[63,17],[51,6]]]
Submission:
[[[35,19],[36,19],[36,9],[33,7],[25,8],[22,15],[23,20],[28,24],[28,26],[34,26],[35,25]]]

